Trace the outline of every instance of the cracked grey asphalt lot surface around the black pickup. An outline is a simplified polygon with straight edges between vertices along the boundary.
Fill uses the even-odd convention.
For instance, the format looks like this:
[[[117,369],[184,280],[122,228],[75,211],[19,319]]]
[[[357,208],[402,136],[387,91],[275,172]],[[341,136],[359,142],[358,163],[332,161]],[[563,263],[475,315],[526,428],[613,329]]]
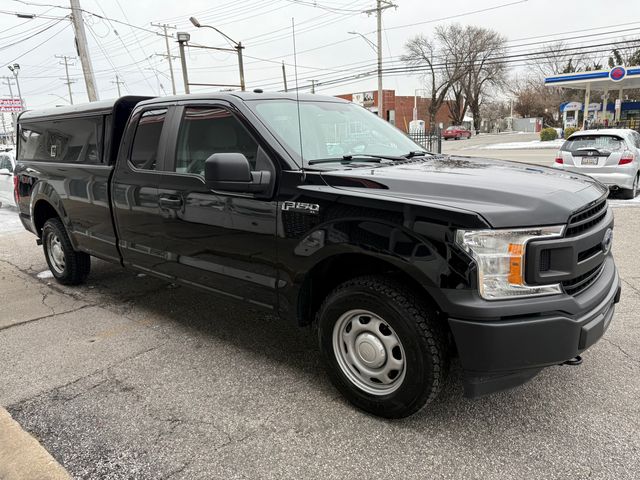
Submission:
[[[388,421],[329,384],[313,333],[93,261],[61,287],[0,209],[0,405],[75,478],[637,479],[640,209],[615,208],[622,301],[580,367]]]

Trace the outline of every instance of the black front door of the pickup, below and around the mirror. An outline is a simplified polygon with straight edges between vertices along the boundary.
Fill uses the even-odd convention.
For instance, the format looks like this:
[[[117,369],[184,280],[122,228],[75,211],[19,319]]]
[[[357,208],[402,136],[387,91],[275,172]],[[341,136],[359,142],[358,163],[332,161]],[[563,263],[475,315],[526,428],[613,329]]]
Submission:
[[[267,308],[276,302],[276,201],[210,190],[204,165],[214,153],[242,153],[252,170],[275,167],[229,105],[184,105],[172,116],[158,207],[167,262],[162,273]]]

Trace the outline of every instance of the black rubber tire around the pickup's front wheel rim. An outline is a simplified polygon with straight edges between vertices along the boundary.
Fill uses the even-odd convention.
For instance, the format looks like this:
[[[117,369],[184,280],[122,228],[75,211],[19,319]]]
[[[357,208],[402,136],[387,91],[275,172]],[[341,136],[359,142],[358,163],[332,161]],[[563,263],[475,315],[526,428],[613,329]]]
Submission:
[[[358,380],[354,382],[349,378],[349,375],[354,375],[349,373],[351,368],[362,376],[355,364],[351,364],[351,368],[340,364],[344,364],[345,360],[340,358],[345,358],[345,354],[336,353],[335,342],[338,342],[337,345],[343,342],[344,350],[348,351],[348,348],[340,337],[343,330],[340,327],[336,328],[336,325],[343,324],[342,319],[345,315],[353,311],[372,312],[376,321],[382,320],[387,324],[394,335],[393,338],[401,342],[404,354],[403,373],[396,374],[398,384],[392,386],[396,389],[390,393],[372,394],[365,391],[357,384]],[[357,320],[349,322],[357,321],[362,324],[361,317],[364,316],[366,320],[368,316],[358,315],[360,316],[356,317]],[[442,321],[437,318],[435,310],[402,283],[381,276],[364,276],[349,280],[329,294],[320,307],[317,321],[320,350],[328,367],[329,377],[336,388],[356,407],[381,417],[402,418],[423,408],[440,392],[446,380],[450,360],[447,331]],[[357,325],[353,328],[361,327]],[[379,328],[382,331],[382,327]],[[344,333],[348,335],[350,330],[351,327],[347,326]],[[362,335],[358,333],[356,341]],[[357,349],[353,350],[354,357],[356,354],[362,355],[361,351],[357,353]],[[389,354],[385,356],[385,364],[391,359]],[[396,357],[395,350],[393,356]],[[384,367],[385,365],[382,365],[382,368]]]

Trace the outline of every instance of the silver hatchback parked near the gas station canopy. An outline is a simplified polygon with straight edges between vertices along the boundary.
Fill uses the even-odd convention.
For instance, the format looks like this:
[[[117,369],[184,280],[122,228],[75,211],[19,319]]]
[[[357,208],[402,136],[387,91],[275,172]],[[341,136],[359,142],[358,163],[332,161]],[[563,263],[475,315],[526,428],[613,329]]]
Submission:
[[[640,177],[640,134],[630,129],[575,132],[562,145],[553,166],[583,173],[623,198],[635,198]]]

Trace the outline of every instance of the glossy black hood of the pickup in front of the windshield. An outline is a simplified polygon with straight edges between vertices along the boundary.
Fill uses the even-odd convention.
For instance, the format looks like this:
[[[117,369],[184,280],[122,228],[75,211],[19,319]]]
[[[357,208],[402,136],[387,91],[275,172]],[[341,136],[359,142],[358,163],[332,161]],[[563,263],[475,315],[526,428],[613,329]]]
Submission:
[[[460,156],[351,163],[348,169],[322,172],[322,177],[340,189],[472,211],[494,228],[563,224],[607,193],[584,175]]]

